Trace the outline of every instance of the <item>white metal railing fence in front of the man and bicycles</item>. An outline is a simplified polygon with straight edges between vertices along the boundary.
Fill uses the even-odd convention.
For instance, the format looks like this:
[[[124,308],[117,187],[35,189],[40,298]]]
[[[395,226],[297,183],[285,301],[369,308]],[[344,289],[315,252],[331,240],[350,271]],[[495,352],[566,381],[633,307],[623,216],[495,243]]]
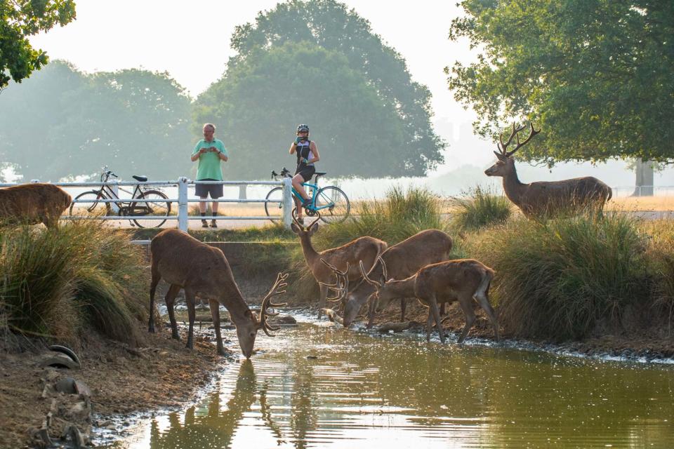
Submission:
[[[31,180],[32,183],[40,182],[39,180]],[[293,207],[292,186],[291,179],[284,178],[281,181],[192,181],[187,177],[179,177],[176,181],[147,181],[147,182],[119,182],[117,180],[107,182],[53,182],[53,185],[64,187],[65,189],[74,187],[93,187],[98,189],[101,186],[109,186],[110,189],[119,197],[119,190],[131,194],[132,192],[124,189],[124,186],[152,186],[152,187],[178,187],[178,198],[169,199],[133,199],[117,198],[117,199],[73,199],[73,203],[110,203],[112,210],[117,213],[117,203],[178,203],[177,215],[64,215],[62,220],[172,220],[178,222],[178,229],[187,231],[189,220],[282,220],[284,227],[289,228],[292,222],[291,210]],[[282,187],[282,213],[278,216],[235,216],[235,215],[216,215],[216,216],[190,216],[189,203],[200,202],[201,199],[190,199],[187,195],[187,188],[197,184],[216,184],[225,186],[248,186],[248,185],[269,185],[273,187]],[[17,184],[0,184],[0,187],[11,187]],[[73,198],[77,195],[73,195]],[[216,203],[277,203],[278,200],[267,199],[234,199],[234,198],[220,198],[208,199],[208,202]],[[74,209],[77,210],[77,209]]]

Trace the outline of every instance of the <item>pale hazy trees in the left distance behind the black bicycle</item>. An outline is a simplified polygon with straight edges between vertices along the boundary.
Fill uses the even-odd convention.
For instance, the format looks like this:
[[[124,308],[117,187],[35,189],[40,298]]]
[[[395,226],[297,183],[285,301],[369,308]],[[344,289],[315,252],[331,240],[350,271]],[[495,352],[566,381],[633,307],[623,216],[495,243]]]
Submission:
[[[190,169],[191,113],[166,73],[82,74],[55,61],[2,94],[0,158],[24,180],[93,176],[105,165],[126,178],[176,177]]]

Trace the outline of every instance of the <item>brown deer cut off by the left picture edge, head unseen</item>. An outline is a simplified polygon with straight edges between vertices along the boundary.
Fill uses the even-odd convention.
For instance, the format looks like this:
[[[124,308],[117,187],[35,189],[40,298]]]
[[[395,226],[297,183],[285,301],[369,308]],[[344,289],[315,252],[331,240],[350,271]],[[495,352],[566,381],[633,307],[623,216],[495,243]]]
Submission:
[[[58,225],[58,218],[70,206],[72,197],[51,184],[22,184],[0,189],[0,220]]]

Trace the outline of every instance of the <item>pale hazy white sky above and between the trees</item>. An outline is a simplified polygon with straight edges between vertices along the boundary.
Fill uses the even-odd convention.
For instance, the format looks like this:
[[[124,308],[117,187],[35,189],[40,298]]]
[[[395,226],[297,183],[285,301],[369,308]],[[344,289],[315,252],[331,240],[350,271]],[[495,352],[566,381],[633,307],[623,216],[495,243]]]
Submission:
[[[143,67],[167,71],[193,96],[220,78],[234,54],[234,27],[252,22],[259,11],[274,8],[276,0],[190,2],[159,0],[78,0],[77,20],[31,39],[51,58],[73,62],[85,72]],[[458,127],[473,114],[458,105],[447,89],[443,69],[455,60],[471,58],[467,42],[447,39],[455,1],[343,2],[366,18],[376,34],[405,60],[414,81],[432,92],[438,133],[458,137]],[[464,126],[463,132],[469,132]],[[454,134],[454,135],[452,135]],[[465,137],[465,136],[464,136]],[[488,144],[485,144],[488,145]],[[477,154],[476,154],[477,153]],[[455,155],[456,156],[456,155]],[[449,157],[445,169],[462,163],[486,163],[491,152],[470,151]]]

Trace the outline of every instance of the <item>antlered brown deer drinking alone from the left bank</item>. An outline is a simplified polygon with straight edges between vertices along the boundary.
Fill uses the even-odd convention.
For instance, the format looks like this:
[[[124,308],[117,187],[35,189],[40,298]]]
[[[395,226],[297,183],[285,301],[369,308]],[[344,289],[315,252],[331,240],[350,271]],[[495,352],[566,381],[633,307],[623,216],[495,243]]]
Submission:
[[[216,329],[218,340],[218,354],[226,355],[223,347],[223,339],[220,336],[220,310],[219,305],[227,307],[234,326],[237,328],[239,346],[246,358],[253,354],[253,344],[259,329],[272,337],[270,330],[278,330],[267,323],[267,316],[275,314],[268,311],[269,307],[282,307],[286,304],[275,304],[271,297],[280,295],[285,290],[284,281],[287,274],[279,273],[276,282],[265,296],[260,307],[260,319],[248,307],[244,297],[234,281],[232,269],[227,262],[225,254],[219,248],[202,243],[194,237],[178,231],[178,229],[166,229],[152,239],[150,244],[152,253],[152,282],[150,284],[150,321],[147,330],[154,332],[154,291],[157,283],[164,279],[171,284],[166,293],[166,309],[169,311],[171,320],[171,337],[180,340],[176,316],[173,313],[173,301],[180,288],[185,289],[187,300],[187,314],[190,319],[190,330],[187,333],[186,347],[192,348],[192,335],[194,330],[194,298],[206,297],[211,306],[213,327]]]

